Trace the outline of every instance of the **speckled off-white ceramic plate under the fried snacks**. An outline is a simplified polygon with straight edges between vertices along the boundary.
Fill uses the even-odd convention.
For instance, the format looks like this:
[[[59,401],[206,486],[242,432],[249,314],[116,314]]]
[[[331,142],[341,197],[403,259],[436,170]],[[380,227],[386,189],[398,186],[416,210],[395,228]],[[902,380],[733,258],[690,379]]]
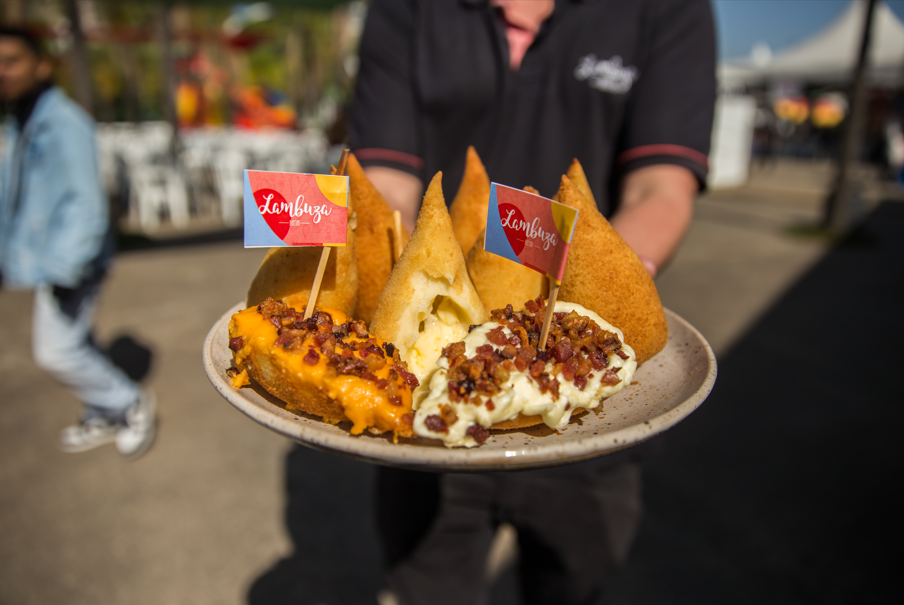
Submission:
[[[577,462],[611,454],[671,428],[697,409],[716,381],[716,358],[703,336],[668,309],[669,342],[634,375],[634,382],[591,411],[554,432],[544,426],[500,432],[477,448],[448,449],[429,439],[398,444],[348,425],[334,426],[286,411],[257,385],[236,390],[226,377],[232,365],[227,326],[238,304],[214,324],[204,341],[204,370],[210,382],[239,411],[270,430],[304,445],[377,464],[420,470],[498,471]]]

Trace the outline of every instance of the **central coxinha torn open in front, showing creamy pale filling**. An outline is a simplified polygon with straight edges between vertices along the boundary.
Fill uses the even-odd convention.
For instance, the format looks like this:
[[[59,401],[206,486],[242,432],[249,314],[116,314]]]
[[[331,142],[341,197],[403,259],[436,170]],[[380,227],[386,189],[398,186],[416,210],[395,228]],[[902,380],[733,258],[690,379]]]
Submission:
[[[370,328],[392,342],[424,384],[442,348],[464,338],[487,314],[468,277],[436,173],[418,214],[411,241],[389,276]]]

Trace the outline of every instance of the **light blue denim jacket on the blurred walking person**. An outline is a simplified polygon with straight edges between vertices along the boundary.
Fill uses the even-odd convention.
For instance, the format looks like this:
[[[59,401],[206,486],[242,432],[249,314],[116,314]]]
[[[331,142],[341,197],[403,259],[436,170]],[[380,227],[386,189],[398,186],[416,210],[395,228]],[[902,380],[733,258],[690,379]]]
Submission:
[[[75,287],[112,255],[94,121],[57,87],[19,130],[6,123],[0,176],[3,285]],[[21,166],[21,168],[17,168]]]

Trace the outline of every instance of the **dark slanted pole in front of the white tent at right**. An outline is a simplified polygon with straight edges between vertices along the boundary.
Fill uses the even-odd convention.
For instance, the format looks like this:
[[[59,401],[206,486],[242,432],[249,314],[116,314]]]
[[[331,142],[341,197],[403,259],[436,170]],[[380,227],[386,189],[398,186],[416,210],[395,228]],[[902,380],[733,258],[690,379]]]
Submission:
[[[854,183],[851,179],[851,168],[857,160],[857,151],[863,138],[863,123],[866,113],[866,67],[870,37],[873,27],[873,14],[876,0],[865,0],[866,15],[863,20],[863,35],[860,38],[860,50],[857,55],[857,66],[854,68],[854,79],[851,84],[851,107],[847,127],[844,133],[841,154],[835,173],[835,183],[826,199],[823,226],[831,231],[843,233],[851,226],[851,199],[854,195]]]

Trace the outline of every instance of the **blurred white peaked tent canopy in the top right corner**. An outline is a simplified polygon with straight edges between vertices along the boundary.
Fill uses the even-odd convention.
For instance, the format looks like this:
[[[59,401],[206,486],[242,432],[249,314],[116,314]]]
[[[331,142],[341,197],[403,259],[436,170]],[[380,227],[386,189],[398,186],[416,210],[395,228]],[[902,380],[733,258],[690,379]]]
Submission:
[[[719,64],[724,87],[794,79],[836,84],[850,81],[866,18],[866,0],[854,0],[828,27],[776,54],[754,48],[751,56],[727,59]],[[904,79],[904,24],[883,2],[873,15],[868,81],[896,85]]]

